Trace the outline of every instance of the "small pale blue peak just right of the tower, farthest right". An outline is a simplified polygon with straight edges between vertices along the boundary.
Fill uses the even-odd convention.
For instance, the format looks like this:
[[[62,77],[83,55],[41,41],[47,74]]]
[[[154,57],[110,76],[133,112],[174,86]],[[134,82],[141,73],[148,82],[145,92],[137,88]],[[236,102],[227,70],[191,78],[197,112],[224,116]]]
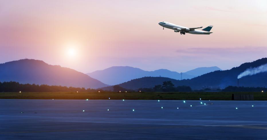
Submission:
[[[213,71],[221,71],[221,69],[216,66],[215,67],[200,67],[200,68],[192,69],[190,71],[186,71],[185,73],[188,75],[195,75],[197,77],[197,76],[210,73]]]

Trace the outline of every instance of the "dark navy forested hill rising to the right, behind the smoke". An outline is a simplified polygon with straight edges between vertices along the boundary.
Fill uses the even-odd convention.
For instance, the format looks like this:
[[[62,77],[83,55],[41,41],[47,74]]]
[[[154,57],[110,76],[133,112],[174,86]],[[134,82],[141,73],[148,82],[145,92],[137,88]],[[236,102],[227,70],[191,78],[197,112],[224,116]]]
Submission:
[[[262,58],[250,63],[244,63],[230,70],[214,71],[192,79],[176,80],[166,77],[142,77],[121,83],[119,86],[126,89],[153,88],[154,85],[162,84],[163,81],[172,81],[175,86],[187,85],[192,89],[203,87],[225,88],[229,85],[237,86],[237,76],[248,68],[258,67],[267,63],[267,58]],[[245,76],[239,79],[239,86],[244,87],[267,87],[267,72]],[[106,89],[111,89],[106,88]]]

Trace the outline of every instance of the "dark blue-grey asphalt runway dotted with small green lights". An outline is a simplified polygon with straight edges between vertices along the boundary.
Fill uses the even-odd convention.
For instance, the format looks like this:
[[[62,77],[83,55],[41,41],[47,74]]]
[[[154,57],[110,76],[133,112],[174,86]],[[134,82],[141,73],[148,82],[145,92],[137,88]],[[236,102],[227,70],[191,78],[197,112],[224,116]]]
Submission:
[[[0,100],[0,106],[0,139],[267,139],[267,101]]]

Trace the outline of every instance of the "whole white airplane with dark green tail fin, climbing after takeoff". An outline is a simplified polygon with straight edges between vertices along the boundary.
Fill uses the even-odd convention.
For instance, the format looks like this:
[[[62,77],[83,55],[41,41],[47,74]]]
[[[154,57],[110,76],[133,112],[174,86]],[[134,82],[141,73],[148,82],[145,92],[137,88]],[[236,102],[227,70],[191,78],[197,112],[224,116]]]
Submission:
[[[172,24],[172,23],[169,23],[169,22],[160,22],[158,24],[163,27],[163,30],[164,30],[164,27],[165,27],[165,28],[174,30],[174,32],[180,32],[180,34],[185,34],[185,33],[189,33],[189,34],[211,34],[212,32],[209,32],[209,31],[211,31],[211,28],[213,27],[213,26],[210,25],[210,26],[208,26],[208,27],[206,27],[206,28],[204,28],[202,30],[195,30],[195,29],[199,29],[199,28],[202,28],[202,27],[187,28],[187,27],[179,26],[179,25]]]

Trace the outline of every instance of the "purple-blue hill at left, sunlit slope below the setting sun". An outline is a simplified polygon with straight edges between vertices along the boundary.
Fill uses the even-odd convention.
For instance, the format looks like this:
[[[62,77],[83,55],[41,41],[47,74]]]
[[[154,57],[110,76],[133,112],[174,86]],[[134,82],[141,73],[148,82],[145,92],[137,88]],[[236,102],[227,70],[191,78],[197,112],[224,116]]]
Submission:
[[[21,59],[0,64],[0,81],[84,88],[108,86],[84,73],[58,65],[48,65],[44,61],[34,59]]]

